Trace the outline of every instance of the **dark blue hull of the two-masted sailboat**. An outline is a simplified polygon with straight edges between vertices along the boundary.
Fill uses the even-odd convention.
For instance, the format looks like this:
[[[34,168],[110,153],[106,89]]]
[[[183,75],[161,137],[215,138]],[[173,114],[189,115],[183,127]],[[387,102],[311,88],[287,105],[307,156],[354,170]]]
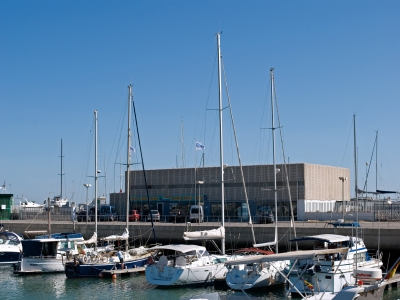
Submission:
[[[144,267],[148,257],[124,261],[125,269]],[[121,269],[121,264],[117,262],[108,263],[89,263],[67,262],[64,267],[65,275],[68,278],[99,277],[102,271]]]

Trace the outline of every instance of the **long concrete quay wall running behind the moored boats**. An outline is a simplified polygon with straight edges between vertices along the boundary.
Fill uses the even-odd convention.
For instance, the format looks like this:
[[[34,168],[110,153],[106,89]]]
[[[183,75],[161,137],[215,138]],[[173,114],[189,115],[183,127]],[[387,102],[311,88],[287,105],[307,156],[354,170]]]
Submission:
[[[26,231],[46,231],[48,228],[47,221],[44,220],[3,220],[4,230],[14,231],[24,235],[25,238],[32,238],[35,234],[27,236]],[[220,226],[219,223],[192,223],[191,230],[208,230],[215,229]],[[290,245],[289,240],[294,237],[294,229],[290,227],[290,222],[279,222],[278,240],[279,252],[289,251],[294,249],[294,244]],[[187,231],[186,223],[164,223],[156,222],[154,231],[157,241],[152,235],[152,227],[150,222],[130,222],[129,236],[130,243],[134,245],[151,245],[161,244],[185,244],[183,232]],[[120,235],[126,228],[125,222],[98,222],[99,238],[109,235]],[[271,242],[274,240],[275,225],[274,224],[255,224],[253,226],[256,243]],[[295,230],[297,237],[318,234],[341,234],[348,236],[356,236],[355,228],[334,228],[326,222],[308,221],[295,222]],[[94,222],[75,222],[72,221],[54,221],[51,224],[51,232],[80,232],[85,239],[89,239],[95,231]],[[247,223],[225,223],[225,245],[226,251],[235,250],[241,247],[251,247],[253,238],[251,226]],[[38,235],[38,234],[36,234]],[[386,252],[400,253],[400,222],[361,222],[361,228],[358,229],[358,235],[364,239],[364,242],[369,250],[380,249]],[[190,241],[189,243],[201,244],[201,241]],[[220,242],[216,241],[220,246]],[[305,242],[299,244],[299,249],[310,249],[312,244]],[[291,248],[291,249],[290,249]]]

